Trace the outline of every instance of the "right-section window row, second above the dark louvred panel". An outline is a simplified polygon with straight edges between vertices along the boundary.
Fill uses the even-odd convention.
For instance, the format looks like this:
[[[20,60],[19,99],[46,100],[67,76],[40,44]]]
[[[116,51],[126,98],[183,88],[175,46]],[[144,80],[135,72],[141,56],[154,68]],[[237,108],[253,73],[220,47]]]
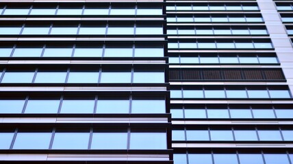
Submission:
[[[272,49],[272,43],[262,40],[194,40],[168,42],[168,49]]]

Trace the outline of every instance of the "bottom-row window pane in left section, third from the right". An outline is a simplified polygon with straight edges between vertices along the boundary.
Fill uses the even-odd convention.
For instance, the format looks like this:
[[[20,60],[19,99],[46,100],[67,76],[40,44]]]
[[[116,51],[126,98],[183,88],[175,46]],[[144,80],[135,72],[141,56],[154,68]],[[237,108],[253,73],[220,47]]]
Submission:
[[[88,149],[90,133],[55,133],[52,149]]]

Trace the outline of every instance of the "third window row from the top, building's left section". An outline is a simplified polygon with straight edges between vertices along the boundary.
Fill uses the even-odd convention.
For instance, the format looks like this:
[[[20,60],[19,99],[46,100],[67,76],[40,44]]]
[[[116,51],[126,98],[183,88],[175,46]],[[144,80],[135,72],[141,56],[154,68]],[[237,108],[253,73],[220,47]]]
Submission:
[[[0,57],[164,57],[157,45],[8,45],[0,46]]]

